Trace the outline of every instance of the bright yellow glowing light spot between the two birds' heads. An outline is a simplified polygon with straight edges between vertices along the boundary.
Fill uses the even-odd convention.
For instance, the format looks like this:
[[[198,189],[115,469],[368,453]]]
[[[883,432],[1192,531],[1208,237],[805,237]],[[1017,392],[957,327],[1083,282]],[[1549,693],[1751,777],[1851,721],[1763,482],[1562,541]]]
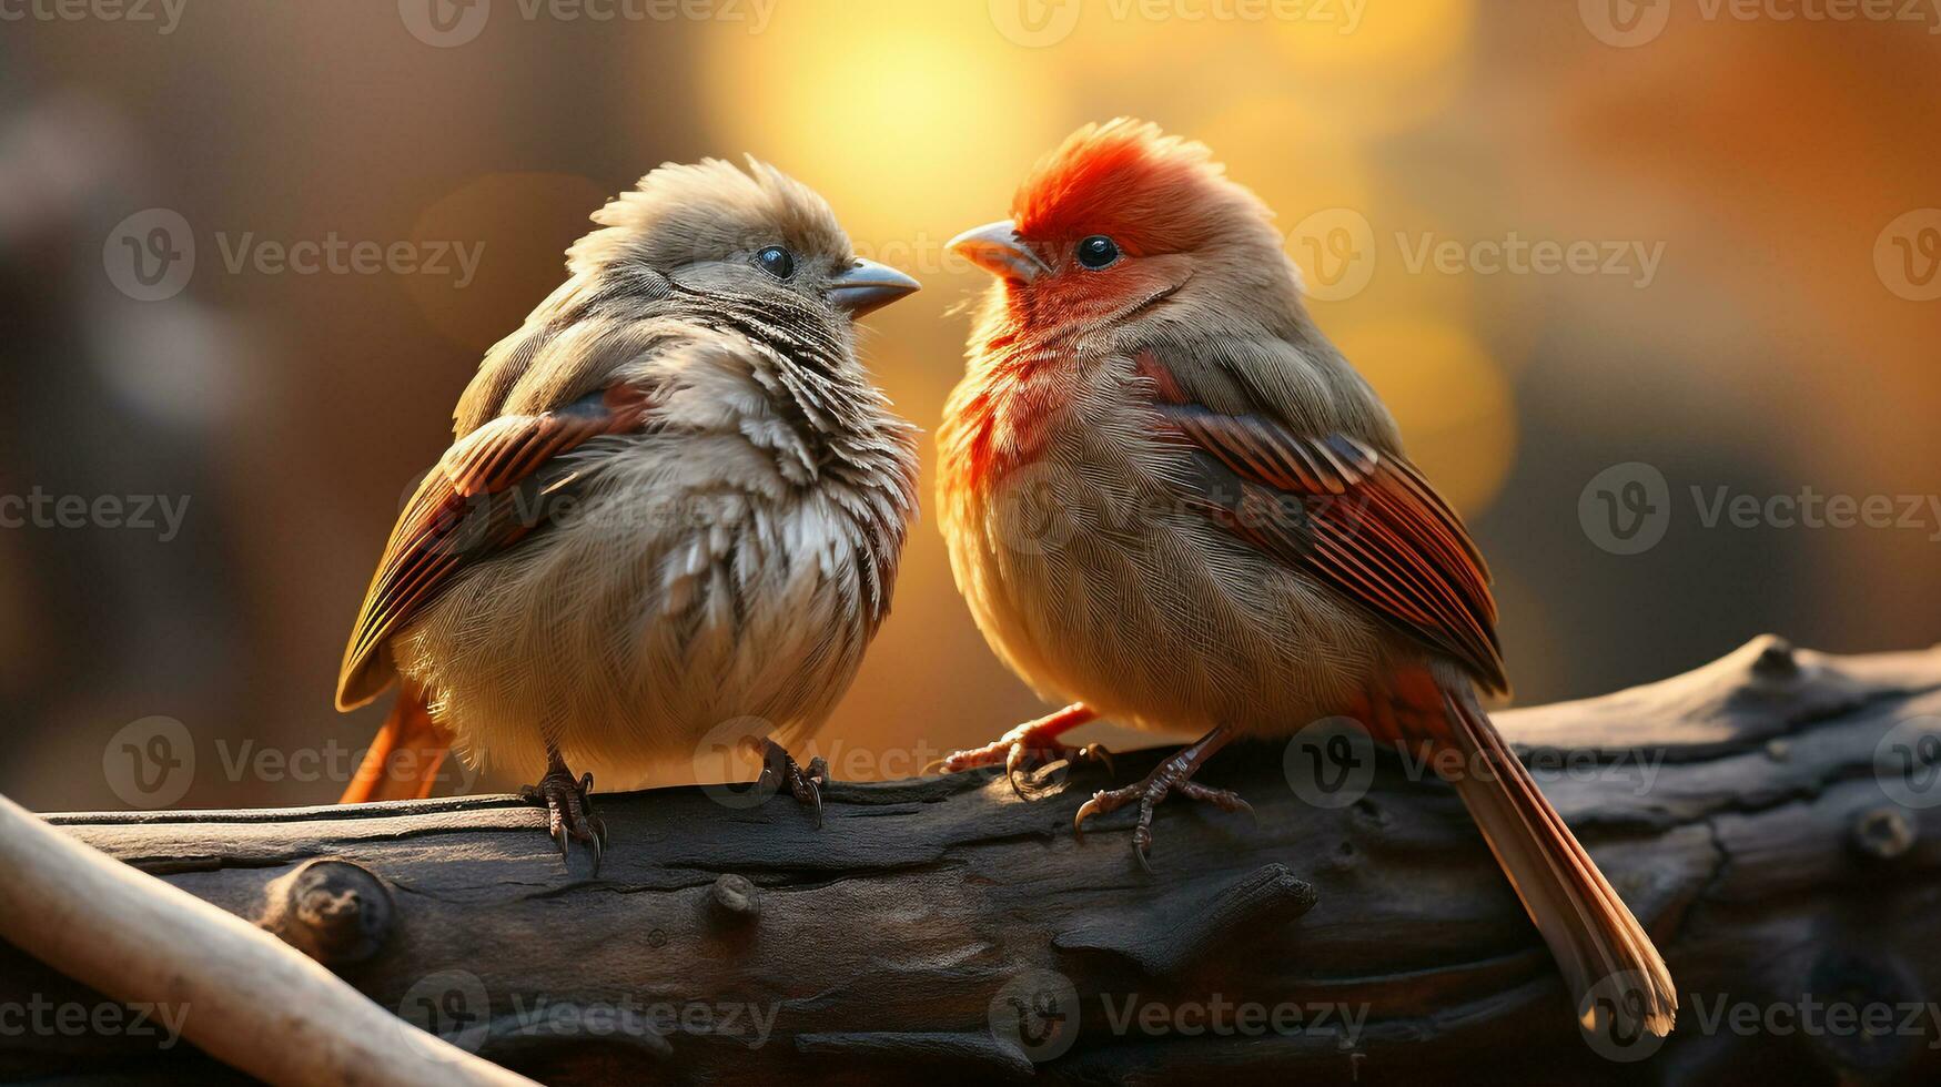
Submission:
[[[708,45],[712,128],[821,190],[858,247],[920,237],[918,276],[957,229],[1002,215],[1069,128],[1044,54],[982,4],[807,0]]]

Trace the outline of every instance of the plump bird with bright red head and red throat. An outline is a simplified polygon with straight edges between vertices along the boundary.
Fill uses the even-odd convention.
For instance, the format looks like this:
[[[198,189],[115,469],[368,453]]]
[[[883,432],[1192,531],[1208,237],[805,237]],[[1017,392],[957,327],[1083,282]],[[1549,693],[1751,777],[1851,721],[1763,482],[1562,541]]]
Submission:
[[[1427,745],[1549,943],[1580,1023],[1669,1033],[1650,936],[1483,708],[1508,693],[1489,569],[1394,415],[1314,324],[1271,212],[1198,142],[1087,124],[949,250],[990,272],[938,429],[938,520],[992,650],[1069,703],[945,769],[1085,755],[1095,718],[1198,734],[1087,819],[1168,796],[1234,738],[1332,716]],[[1458,757],[1460,759],[1452,759]],[[1603,986],[1603,988],[1597,988]],[[1607,1009],[1605,1009],[1607,1011]]]

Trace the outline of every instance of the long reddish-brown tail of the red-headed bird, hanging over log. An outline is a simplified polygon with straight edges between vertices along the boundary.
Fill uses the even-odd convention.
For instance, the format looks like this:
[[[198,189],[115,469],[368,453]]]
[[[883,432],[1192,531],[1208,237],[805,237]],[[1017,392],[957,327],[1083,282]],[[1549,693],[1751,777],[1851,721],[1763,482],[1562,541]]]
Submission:
[[[1551,945],[1580,1025],[1621,1038],[1669,1035],[1679,998],[1652,938],[1537,792],[1475,695],[1442,693],[1442,703],[1448,724],[1436,740],[1462,755],[1450,782]]]

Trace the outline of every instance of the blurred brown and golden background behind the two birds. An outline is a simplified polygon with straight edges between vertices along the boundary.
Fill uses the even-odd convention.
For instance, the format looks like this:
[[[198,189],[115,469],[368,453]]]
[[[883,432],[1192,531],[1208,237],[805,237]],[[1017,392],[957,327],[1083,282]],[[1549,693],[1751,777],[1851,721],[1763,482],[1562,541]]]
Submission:
[[[1891,8],[4,4],[0,792],[332,800],[384,712],[330,701],[392,518],[481,351],[646,169],[753,151],[920,276],[868,357],[932,429],[986,285],[943,243],[1114,115],[1277,210],[1495,565],[1520,701],[1762,631],[1931,644],[1941,16]],[[1891,507],[1770,503],[1807,493]],[[823,753],[901,776],[1038,712],[926,516]],[[198,771],[130,786],[155,736]]]

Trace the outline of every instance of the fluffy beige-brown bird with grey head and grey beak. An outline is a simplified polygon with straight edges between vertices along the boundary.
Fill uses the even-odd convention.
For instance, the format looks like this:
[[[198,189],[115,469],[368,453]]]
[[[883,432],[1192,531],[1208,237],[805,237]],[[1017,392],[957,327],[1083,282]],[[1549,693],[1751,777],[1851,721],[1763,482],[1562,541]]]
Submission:
[[[536,776],[598,872],[586,767],[637,778],[726,722],[765,722],[741,740],[819,823],[827,765],[773,736],[831,714],[889,613],[916,427],[852,322],[918,281],[755,157],[666,163],[592,221],[458,400],[336,705],[400,689],[342,802],[429,796],[456,749]]]

